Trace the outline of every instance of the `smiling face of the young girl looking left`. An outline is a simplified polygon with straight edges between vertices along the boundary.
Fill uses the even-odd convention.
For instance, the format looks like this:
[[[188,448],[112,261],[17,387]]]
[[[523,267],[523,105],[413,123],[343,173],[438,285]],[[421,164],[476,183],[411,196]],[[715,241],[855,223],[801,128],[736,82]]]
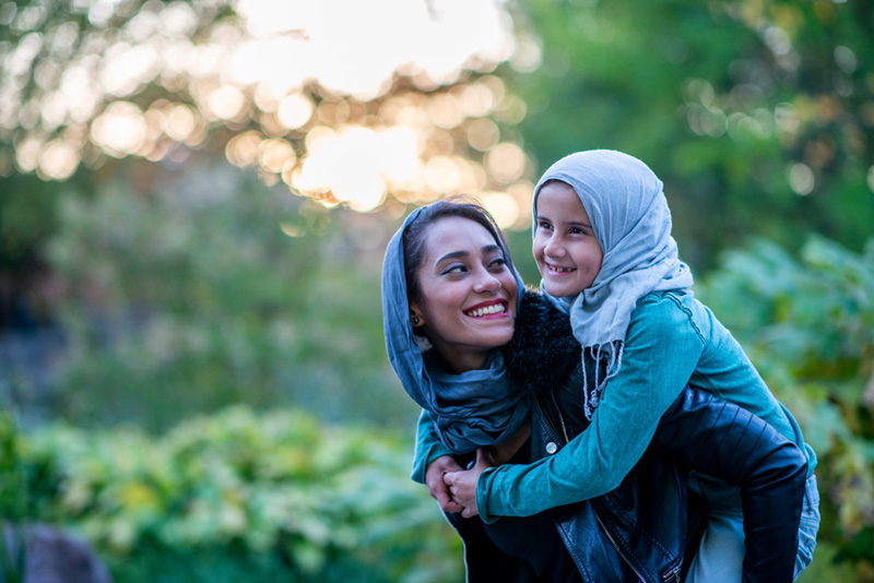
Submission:
[[[556,180],[540,189],[536,222],[532,251],[543,288],[555,297],[571,297],[591,287],[604,254],[570,185]]]

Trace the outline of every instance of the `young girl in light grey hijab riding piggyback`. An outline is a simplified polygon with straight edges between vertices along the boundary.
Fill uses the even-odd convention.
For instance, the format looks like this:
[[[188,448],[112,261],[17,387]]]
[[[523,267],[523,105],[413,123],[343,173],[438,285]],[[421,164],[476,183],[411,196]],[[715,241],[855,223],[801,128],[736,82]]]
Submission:
[[[541,178],[534,215],[542,289],[569,314],[583,361],[599,364],[595,378],[583,383],[590,388],[583,398],[591,425],[535,464],[487,468],[473,478],[447,475],[459,501],[473,493],[477,477],[473,496],[485,522],[610,491],[690,383],[748,409],[805,452],[798,576],[812,559],[819,524],[816,456],[731,333],[688,289],[693,278],[677,258],[662,182],[619,152],[571,154]],[[736,488],[705,476],[690,487],[705,500],[709,521],[688,581],[741,581],[744,532]],[[539,489],[550,491],[551,500],[534,493]]]

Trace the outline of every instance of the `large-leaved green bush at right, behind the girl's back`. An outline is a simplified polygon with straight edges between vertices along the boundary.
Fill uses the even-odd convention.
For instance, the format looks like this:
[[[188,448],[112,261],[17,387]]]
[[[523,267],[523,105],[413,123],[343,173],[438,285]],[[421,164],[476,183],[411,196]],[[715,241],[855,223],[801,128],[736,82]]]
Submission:
[[[698,295],[801,424],[819,460],[819,539],[862,581],[874,568],[874,239],[858,254],[812,237],[799,259],[759,241],[728,253]]]

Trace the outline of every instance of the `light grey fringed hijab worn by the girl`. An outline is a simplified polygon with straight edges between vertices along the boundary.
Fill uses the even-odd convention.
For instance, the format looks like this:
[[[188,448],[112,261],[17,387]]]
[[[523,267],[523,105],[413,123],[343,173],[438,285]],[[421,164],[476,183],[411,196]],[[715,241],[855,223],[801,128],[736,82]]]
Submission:
[[[604,253],[591,287],[578,296],[555,298],[544,290],[570,316],[583,359],[588,353],[605,360],[603,378],[597,372],[591,388],[587,379],[584,412],[591,419],[606,382],[622,367],[625,334],[637,302],[650,291],[689,287],[692,272],[677,257],[662,181],[639,159],[612,150],[559,159],[534,189],[535,225],[538,194],[550,180],[566,182],[577,192]]]

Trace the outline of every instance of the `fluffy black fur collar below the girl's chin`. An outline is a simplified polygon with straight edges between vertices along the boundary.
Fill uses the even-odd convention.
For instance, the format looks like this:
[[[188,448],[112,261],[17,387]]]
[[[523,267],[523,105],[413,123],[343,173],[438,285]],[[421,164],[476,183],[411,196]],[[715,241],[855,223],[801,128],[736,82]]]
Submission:
[[[539,291],[525,289],[516,317],[516,332],[504,349],[510,381],[536,393],[560,383],[579,358],[580,345],[567,314]]]

